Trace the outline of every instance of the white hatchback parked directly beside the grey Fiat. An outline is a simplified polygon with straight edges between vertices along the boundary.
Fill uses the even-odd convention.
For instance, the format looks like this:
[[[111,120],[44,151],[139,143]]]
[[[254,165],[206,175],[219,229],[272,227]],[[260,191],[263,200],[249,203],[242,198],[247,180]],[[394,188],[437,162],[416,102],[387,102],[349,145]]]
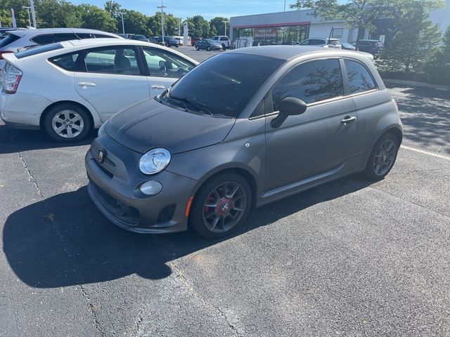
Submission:
[[[5,54],[0,117],[9,128],[82,140],[115,112],[153,97],[198,64],[129,39],[84,39]]]

